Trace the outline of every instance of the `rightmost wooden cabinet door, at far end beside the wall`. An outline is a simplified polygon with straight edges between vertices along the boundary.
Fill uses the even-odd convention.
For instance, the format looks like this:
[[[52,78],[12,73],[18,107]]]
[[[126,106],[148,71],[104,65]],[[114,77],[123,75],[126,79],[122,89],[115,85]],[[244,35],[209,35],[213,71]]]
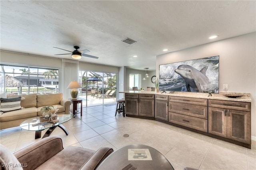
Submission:
[[[240,110],[228,110],[227,137],[229,139],[251,144],[250,112]]]

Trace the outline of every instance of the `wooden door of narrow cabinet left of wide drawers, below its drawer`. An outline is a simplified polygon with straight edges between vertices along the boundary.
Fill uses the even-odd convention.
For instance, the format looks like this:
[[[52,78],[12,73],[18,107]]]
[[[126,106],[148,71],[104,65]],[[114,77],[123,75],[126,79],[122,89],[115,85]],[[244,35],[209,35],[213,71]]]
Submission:
[[[155,117],[168,121],[168,101],[155,100]]]

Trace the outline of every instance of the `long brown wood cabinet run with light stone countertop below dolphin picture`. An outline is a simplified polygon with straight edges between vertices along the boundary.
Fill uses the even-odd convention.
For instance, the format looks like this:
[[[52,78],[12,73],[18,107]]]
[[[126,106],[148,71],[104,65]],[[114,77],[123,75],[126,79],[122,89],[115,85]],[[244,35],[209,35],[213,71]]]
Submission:
[[[154,119],[236,145],[251,147],[252,100],[248,93],[122,93],[125,93],[126,116]],[[241,97],[230,98],[227,95]]]

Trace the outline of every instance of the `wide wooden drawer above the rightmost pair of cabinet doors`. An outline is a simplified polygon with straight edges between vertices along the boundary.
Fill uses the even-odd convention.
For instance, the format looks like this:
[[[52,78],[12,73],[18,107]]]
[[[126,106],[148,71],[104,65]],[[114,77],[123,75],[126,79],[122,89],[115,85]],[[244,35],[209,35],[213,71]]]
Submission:
[[[208,100],[209,107],[219,107],[224,109],[234,109],[242,111],[251,111],[251,103],[248,102],[234,102],[226,100]]]

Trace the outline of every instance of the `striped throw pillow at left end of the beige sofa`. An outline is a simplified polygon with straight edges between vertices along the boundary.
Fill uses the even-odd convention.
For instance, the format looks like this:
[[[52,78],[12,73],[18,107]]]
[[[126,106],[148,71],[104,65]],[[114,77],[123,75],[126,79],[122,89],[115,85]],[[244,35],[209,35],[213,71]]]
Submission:
[[[1,107],[0,111],[5,113],[8,111],[14,111],[21,109],[20,100],[21,97],[18,98],[0,98],[1,100]]]

